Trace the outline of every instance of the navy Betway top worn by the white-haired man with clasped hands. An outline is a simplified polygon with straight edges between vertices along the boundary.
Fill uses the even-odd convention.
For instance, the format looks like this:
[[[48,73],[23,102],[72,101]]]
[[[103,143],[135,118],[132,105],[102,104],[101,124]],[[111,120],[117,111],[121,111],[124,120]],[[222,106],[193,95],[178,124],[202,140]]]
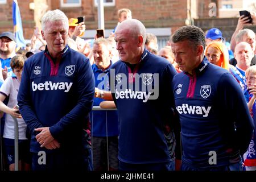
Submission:
[[[24,63],[18,92],[20,113],[31,132],[31,152],[77,150],[94,97],[94,76],[89,59],[68,46],[53,62],[47,51],[31,56]],[[60,148],[40,148],[34,131],[49,127]]]

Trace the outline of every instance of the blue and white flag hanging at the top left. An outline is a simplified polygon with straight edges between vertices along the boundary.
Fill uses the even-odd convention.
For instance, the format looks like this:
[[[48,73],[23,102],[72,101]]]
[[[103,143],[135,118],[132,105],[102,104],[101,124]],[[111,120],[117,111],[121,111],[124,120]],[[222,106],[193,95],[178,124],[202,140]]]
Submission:
[[[19,6],[17,0],[13,1],[13,26],[14,35],[16,37],[18,47],[26,47],[25,40],[23,37],[22,20],[19,12]]]

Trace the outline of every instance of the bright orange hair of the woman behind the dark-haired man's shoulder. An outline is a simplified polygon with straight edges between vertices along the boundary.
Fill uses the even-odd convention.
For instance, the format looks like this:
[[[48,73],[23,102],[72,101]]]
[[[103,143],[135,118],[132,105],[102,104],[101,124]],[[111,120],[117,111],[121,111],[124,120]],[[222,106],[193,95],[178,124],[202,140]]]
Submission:
[[[205,53],[207,53],[207,50],[209,47],[213,47],[214,49],[217,49],[220,51],[220,61],[219,61],[219,67],[229,70],[229,52],[228,48],[220,42],[220,41],[212,41],[208,44],[207,48],[205,48]]]

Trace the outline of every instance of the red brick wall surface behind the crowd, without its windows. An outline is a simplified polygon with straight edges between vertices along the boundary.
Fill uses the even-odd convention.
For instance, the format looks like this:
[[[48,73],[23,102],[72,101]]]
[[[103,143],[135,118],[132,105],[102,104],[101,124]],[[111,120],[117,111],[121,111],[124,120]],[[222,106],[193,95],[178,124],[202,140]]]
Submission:
[[[105,28],[112,29],[116,26],[118,9],[129,8],[132,11],[133,18],[141,20],[146,28],[172,27],[172,31],[175,31],[180,26],[185,25],[185,20],[189,17],[189,1],[192,0],[118,0],[115,1],[115,6],[104,7]],[[7,0],[6,5],[0,5],[0,32],[13,31],[12,2],[12,0]],[[34,10],[29,9],[30,2],[34,1],[18,0],[25,39],[31,38],[35,26]],[[199,17],[208,16],[208,5],[212,1],[197,0],[196,2],[198,6],[192,6],[191,14],[198,12]],[[60,7],[59,0],[47,0],[47,3],[49,10],[63,10],[68,18],[85,15],[88,30],[96,29],[98,26],[97,7],[94,6],[94,0],[82,0],[81,7]],[[193,16],[195,17],[195,15]]]

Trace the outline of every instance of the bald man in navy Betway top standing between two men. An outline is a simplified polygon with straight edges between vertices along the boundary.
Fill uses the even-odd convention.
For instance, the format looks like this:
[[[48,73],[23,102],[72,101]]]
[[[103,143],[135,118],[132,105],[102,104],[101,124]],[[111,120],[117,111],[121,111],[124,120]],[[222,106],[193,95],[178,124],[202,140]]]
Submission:
[[[110,86],[119,117],[121,171],[174,169],[173,129],[178,122],[171,82],[176,71],[166,59],[147,51],[145,40],[146,28],[137,19],[123,21],[115,31],[121,60],[112,66]],[[170,125],[172,130],[164,133]]]

